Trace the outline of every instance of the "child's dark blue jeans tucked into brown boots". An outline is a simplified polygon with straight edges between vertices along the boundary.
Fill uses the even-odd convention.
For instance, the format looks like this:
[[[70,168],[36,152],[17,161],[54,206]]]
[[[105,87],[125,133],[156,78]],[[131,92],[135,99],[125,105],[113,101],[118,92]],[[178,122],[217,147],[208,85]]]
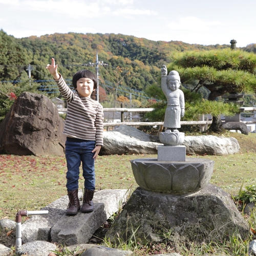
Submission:
[[[72,191],[78,188],[79,167],[82,161],[82,176],[84,187],[95,190],[94,153],[95,141],[67,138],[66,160],[67,160],[67,188]]]

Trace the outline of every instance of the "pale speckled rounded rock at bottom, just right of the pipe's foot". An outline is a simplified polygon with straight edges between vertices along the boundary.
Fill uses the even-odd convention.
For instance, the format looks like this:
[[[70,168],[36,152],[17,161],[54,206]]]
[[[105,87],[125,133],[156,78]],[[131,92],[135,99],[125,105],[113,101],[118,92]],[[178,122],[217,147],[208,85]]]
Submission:
[[[48,256],[48,254],[56,250],[55,244],[46,241],[33,241],[22,246],[22,252],[28,253],[28,256]]]

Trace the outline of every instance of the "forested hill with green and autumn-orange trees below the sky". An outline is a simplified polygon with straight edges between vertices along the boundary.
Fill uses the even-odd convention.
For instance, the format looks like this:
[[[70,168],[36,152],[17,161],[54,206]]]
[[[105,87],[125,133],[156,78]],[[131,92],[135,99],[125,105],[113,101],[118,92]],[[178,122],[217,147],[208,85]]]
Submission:
[[[25,71],[29,63],[33,79],[49,79],[50,74],[45,67],[52,57],[58,63],[59,72],[63,77],[71,79],[80,69],[95,72],[94,67],[82,65],[95,62],[98,52],[99,60],[109,65],[100,67],[102,83],[116,83],[124,77],[124,88],[143,91],[149,84],[157,81],[162,64],[169,62],[172,52],[228,47],[230,45],[190,45],[182,41],[152,41],[122,34],[99,33],[55,33],[40,37],[15,38],[1,30],[0,80],[23,79],[26,77]]]

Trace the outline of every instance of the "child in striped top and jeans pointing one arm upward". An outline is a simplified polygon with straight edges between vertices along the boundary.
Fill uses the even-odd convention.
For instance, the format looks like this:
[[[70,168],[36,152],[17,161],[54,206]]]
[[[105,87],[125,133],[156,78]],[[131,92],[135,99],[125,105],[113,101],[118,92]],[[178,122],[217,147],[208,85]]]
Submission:
[[[57,72],[57,65],[52,64],[46,69],[53,75],[59,91],[68,102],[67,119],[63,134],[67,135],[67,189],[69,205],[67,215],[76,215],[80,209],[78,198],[79,166],[82,161],[84,177],[84,194],[82,212],[93,211],[93,195],[95,190],[94,160],[103,146],[103,108],[100,103],[91,99],[97,88],[97,77],[89,70],[78,71],[73,76],[71,91],[66,82]]]

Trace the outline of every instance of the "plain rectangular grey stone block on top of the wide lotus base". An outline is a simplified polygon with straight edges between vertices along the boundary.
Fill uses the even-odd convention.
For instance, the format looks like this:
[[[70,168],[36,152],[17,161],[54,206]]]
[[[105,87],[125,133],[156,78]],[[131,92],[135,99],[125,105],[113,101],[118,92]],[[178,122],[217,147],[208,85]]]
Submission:
[[[185,146],[158,146],[157,147],[158,161],[185,161],[186,147]]]

